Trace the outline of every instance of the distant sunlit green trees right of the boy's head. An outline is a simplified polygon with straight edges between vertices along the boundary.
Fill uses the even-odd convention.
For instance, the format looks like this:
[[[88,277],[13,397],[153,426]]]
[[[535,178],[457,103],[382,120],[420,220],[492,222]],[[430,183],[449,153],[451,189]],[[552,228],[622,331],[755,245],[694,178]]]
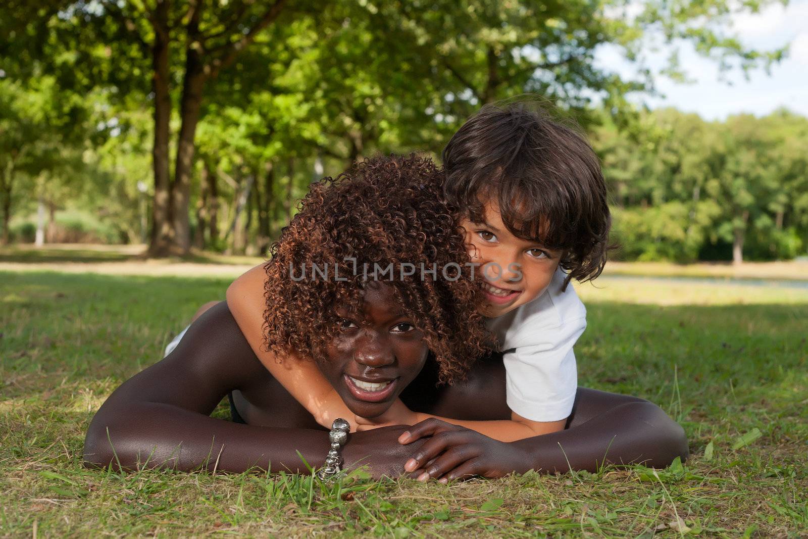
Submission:
[[[793,259],[806,254],[808,119],[786,111],[706,122],[646,113],[592,133],[629,260]]]

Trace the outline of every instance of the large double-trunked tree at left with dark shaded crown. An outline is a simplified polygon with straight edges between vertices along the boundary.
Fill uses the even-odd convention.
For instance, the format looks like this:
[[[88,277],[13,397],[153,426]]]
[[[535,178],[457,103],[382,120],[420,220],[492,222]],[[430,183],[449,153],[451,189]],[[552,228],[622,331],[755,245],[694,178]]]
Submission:
[[[154,204],[149,251],[184,254],[190,247],[188,204],[196,127],[205,86],[279,18],[286,0],[154,0],[42,2],[11,6],[32,25],[50,29],[37,47],[71,87],[109,86],[121,99],[149,95],[154,114]],[[26,32],[27,33],[27,32]],[[68,53],[62,54],[65,43]],[[179,54],[175,53],[179,51]],[[128,65],[127,65],[128,63]],[[86,69],[94,65],[93,69]],[[120,69],[124,68],[124,69]],[[128,68],[128,69],[127,69]],[[176,74],[181,74],[179,131],[171,175],[171,128]],[[149,84],[150,82],[150,84]],[[146,86],[150,86],[147,90]]]

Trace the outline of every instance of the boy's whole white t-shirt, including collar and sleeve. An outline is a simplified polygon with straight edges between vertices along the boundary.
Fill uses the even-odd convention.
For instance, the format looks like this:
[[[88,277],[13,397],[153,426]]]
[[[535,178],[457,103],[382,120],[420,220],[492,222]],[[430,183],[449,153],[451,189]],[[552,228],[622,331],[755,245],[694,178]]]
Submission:
[[[558,268],[535,300],[488,320],[503,351],[507,405],[532,421],[569,417],[578,390],[572,347],[587,327],[587,310],[572,284],[561,291],[565,279]]]

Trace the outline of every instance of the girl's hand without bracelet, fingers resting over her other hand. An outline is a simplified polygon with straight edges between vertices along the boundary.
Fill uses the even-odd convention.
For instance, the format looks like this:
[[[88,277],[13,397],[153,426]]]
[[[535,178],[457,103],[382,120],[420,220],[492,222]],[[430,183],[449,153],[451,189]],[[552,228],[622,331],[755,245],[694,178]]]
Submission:
[[[500,442],[435,418],[426,419],[407,429],[399,436],[398,442],[411,444],[428,436],[431,439],[404,465],[407,472],[423,470],[418,476],[419,481],[433,478],[445,483],[449,479],[473,475],[501,478],[514,472],[527,471],[531,467],[528,455],[515,444]]]

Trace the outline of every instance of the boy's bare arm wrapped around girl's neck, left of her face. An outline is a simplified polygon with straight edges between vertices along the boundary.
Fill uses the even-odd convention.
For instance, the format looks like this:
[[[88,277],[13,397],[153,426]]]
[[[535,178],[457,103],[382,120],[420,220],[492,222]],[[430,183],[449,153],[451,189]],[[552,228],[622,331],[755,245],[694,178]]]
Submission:
[[[348,410],[314,361],[296,356],[279,358],[263,350],[263,311],[266,309],[263,287],[266,279],[264,264],[261,263],[227,288],[227,306],[255,356],[320,425],[330,427],[341,417],[351,423],[351,431],[356,431],[353,412]]]

